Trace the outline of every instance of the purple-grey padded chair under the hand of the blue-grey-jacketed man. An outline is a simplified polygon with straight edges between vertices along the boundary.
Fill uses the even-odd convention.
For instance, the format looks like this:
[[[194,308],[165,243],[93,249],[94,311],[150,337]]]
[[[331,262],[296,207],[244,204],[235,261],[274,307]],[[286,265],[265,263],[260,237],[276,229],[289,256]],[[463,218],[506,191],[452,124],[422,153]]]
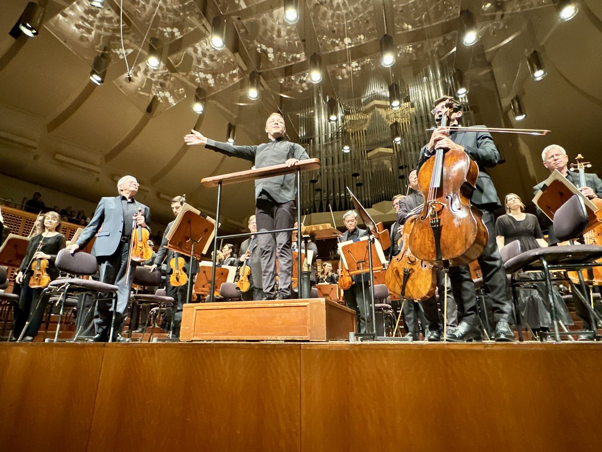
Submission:
[[[111,321],[111,331],[109,336],[109,342],[113,342],[113,323],[115,318],[115,309],[117,305],[117,286],[114,284],[102,283],[101,281],[95,281],[83,277],[90,277],[98,272],[98,263],[96,257],[90,253],[84,251],[78,251],[75,254],[69,253],[68,250],[61,250],[57,254],[57,259],[54,265],[58,271],[66,273],[67,277],[57,278],[54,281],[50,281],[48,286],[42,291],[40,300],[45,295],[50,297],[58,298],[58,321],[57,331],[54,336],[54,341],[58,341],[58,334],[61,327],[61,320],[63,318],[64,308],[67,306],[67,300],[69,296],[79,295],[80,293],[96,293],[96,292],[107,292],[110,293],[108,298],[95,298],[95,303],[100,300],[112,300],[113,301],[113,320]],[[39,303],[39,301],[38,301]],[[94,305],[92,305],[94,306]],[[37,306],[36,306],[37,309]],[[90,307],[92,310],[92,307]],[[34,312],[34,310],[32,310]],[[88,312],[89,314],[89,312]],[[29,324],[29,319],[23,328],[19,341],[23,339],[23,333],[25,333],[26,326]],[[76,331],[72,341],[76,341],[79,336],[79,331]],[[50,339],[46,339],[50,341]]]

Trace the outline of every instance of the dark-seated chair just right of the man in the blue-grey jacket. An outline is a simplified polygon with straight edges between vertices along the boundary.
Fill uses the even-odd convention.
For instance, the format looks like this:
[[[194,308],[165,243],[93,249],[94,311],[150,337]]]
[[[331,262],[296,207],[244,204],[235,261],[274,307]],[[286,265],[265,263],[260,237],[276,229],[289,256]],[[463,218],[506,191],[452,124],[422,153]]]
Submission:
[[[155,270],[154,272],[150,271],[150,268],[144,266],[136,266],[133,268],[134,270],[134,280],[133,283],[137,286],[142,287],[157,287],[161,284],[161,271]],[[153,330],[157,327],[158,318],[160,318],[160,314],[166,313],[168,310],[172,310],[172,321],[170,322],[170,337],[173,334],[173,317],[175,314],[174,306],[175,300],[173,297],[167,297],[165,289],[157,289],[155,293],[132,293],[129,297],[129,300],[132,302],[131,314],[134,311],[140,312],[140,309],[134,309],[135,306],[141,308],[143,305],[152,306],[149,311],[149,318],[151,319],[151,336],[149,336],[148,342],[151,342],[151,337],[153,334]],[[132,315],[130,315],[130,325],[132,325]],[[143,326],[143,334],[146,333],[147,325]],[[128,337],[132,337],[132,328],[128,328]]]

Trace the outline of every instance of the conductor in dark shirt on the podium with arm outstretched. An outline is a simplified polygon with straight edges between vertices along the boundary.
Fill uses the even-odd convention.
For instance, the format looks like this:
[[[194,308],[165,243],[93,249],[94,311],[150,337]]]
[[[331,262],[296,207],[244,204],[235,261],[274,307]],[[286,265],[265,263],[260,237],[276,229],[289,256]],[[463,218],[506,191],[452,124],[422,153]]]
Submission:
[[[265,122],[268,142],[256,146],[234,146],[230,143],[209,139],[196,130],[184,137],[190,145],[205,145],[222,154],[255,162],[255,168],[281,165],[294,166],[299,160],[309,159],[305,149],[284,138],[284,118],[272,113]],[[293,227],[297,210],[295,198],[297,185],[295,174],[266,177],[255,180],[255,216],[261,231],[289,229]],[[275,234],[259,234],[261,249],[262,286],[266,300],[286,300],[291,295],[293,253],[291,231]],[[276,254],[278,254],[278,293],[276,293]]]

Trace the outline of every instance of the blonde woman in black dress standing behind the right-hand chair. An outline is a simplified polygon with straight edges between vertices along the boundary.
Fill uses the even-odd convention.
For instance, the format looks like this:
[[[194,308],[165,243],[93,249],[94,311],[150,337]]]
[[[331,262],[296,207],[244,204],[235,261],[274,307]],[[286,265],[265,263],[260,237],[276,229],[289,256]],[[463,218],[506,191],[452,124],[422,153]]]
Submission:
[[[518,240],[520,251],[535,250],[547,246],[544,234],[541,232],[539,222],[535,215],[524,213],[524,204],[521,198],[514,193],[508,193],[504,199],[506,215],[501,215],[495,222],[495,239],[498,248],[502,248],[510,242]],[[541,272],[529,272],[520,274],[521,280],[541,279]],[[517,290],[518,309],[523,318],[533,331],[549,331],[552,326],[550,306],[548,303],[548,291],[545,283],[536,282]],[[556,315],[565,325],[573,324],[566,304],[554,288],[554,300],[556,301]]]

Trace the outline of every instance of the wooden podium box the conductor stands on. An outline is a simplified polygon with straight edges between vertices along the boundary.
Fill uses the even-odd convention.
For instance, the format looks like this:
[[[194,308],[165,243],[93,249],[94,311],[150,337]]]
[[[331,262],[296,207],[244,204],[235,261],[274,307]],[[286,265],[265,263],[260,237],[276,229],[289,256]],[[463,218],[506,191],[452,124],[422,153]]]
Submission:
[[[355,311],[325,298],[190,303],[180,340],[345,340],[355,324]]]

